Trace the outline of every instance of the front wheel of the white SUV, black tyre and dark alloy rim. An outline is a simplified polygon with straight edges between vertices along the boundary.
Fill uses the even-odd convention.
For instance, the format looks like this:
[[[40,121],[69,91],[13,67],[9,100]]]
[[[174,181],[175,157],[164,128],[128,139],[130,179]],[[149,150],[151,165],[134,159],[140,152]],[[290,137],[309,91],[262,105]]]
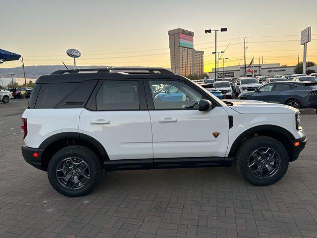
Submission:
[[[285,175],[289,158],[285,147],[267,136],[246,140],[235,158],[238,173],[254,185],[270,185]]]

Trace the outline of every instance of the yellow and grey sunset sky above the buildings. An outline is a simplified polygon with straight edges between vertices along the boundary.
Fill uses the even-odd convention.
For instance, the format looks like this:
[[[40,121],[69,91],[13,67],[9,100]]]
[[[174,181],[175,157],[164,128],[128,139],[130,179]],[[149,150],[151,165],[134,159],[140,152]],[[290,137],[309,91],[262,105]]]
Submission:
[[[170,67],[167,31],[193,31],[194,48],[203,50],[204,70],[217,50],[227,48],[225,66],[247,63],[295,65],[303,46],[300,32],[312,26],[307,60],[317,63],[316,0],[1,0],[0,48],[23,56],[25,66],[72,64],[66,50],[75,48],[80,65]],[[262,61],[262,60],[261,60]],[[0,67],[20,66],[20,61]],[[219,63],[222,66],[222,62]]]

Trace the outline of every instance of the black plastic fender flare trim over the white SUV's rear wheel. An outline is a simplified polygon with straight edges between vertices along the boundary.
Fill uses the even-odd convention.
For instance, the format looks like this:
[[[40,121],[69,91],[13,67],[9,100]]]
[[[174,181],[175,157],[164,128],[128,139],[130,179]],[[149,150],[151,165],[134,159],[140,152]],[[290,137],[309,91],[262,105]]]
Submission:
[[[95,138],[93,138],[89,135],[86,135],[84,133],[79,133],[79,132],[61,132],[61,133],[54,134],[54,135],[48,137],[47,139],[45,139],[40,144],[39,148],[45,149],[53,142],[55,142],[57,140],[61,140],[61,139],[80,139],[80,140],[87,141],[88,143],[92,144],[93,146],[95,146],[97,148],[97,150],[101,154],[103,160],[108,160],[108,158],[109,158],[107,155],[105,147],[98,140],[96,140]]]

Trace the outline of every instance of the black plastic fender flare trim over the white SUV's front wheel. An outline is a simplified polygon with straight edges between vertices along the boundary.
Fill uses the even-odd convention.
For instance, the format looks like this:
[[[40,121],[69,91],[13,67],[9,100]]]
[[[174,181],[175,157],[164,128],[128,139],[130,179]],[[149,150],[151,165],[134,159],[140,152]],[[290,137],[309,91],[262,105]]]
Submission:
[[[238,146],[241,144],[241,142],[243,141],[243,139],[245,137],[247,137],[250,134],[256,133],[258,131],[276,131],[276,132],[286,136],[287,139],[289,139],[289,140],[295,140],[295,137],[294,137],[294,135],[291,132],[289,132],[287,129],[285,129],[283,127],[280,127],[278,125],[257,125],[257,126],[249,128],[246,131],[242,132],[235,139],[235,141],[232,143],[232,146],[230,148],[228,157],[234,157],[235,156],[235,152],[236,152]]]

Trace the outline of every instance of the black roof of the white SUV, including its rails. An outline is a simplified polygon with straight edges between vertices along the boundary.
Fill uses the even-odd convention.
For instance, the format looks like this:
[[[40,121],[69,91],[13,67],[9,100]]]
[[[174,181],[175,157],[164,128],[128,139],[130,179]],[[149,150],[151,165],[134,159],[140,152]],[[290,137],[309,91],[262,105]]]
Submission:
[[[41,75],[36,83],[75,83],[100,79],[178,78],[184,79],[165,68],[88,68],[58,70]]]

